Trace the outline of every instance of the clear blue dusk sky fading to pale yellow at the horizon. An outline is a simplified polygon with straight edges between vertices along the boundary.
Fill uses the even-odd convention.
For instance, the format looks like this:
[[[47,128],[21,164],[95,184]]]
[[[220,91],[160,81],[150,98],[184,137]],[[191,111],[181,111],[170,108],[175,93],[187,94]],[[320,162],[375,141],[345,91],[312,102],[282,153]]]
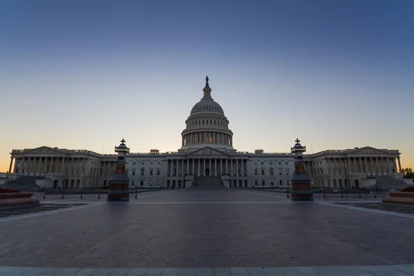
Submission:
[[[203,96],[239,151],[363,146],[414,168],[414,1],[0,1],[12,149],[176,151]]]

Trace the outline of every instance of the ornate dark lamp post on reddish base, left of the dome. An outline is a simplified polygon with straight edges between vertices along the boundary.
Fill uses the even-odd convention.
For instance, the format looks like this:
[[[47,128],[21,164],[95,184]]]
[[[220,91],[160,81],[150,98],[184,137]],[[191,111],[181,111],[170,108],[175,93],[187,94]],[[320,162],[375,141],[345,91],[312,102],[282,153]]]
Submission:
[[[125,142],[122,139],[121,144],[115,146],[115,152],[118,153],[117,168],[109,180],[108,201],[129,201],[129,177],[125,160],[129,148],[126,147]]]

